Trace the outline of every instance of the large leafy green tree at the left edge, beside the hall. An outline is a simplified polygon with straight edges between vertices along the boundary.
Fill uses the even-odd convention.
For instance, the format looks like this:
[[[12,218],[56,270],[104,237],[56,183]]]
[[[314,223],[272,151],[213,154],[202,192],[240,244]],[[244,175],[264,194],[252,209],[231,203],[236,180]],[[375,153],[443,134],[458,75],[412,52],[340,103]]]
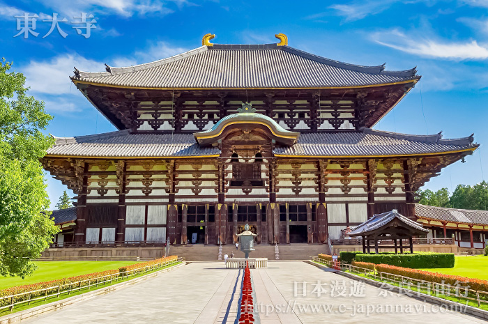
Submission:
[[[22,73],[9,72],[0,60],[0,275],[24,277],[59,229],[46,213],[40,159],[53,139],[45,136],[52,116],[44,103],[28,95]]]

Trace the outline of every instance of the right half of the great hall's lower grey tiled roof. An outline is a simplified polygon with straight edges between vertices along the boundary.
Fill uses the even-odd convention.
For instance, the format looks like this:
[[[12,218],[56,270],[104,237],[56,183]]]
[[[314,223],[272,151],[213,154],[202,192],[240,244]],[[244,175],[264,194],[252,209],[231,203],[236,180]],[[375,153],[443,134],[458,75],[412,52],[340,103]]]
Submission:
[[[280,155],[372,156],[462,151],[478,147],[473,137],[441,139],[441,134],[408,135],[361,128],[359,132],[300,134],[298,143],[275,148]]]

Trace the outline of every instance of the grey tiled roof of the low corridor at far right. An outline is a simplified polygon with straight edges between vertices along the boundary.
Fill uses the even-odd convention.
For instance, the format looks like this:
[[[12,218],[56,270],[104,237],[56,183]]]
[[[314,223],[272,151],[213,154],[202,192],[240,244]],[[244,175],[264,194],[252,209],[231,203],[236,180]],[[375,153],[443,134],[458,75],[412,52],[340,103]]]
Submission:
[[[415,215],[424,219],[460,224],[488,225],[487,210],[468,210],[426,206],[415,203]]]

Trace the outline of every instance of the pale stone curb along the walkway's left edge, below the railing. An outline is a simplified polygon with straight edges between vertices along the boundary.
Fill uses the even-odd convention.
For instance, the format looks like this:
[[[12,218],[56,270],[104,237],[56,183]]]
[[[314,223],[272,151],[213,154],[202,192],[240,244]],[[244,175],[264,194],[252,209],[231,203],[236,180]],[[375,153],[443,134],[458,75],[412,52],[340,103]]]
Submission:
[[[70,298],[65,298],[63,300],[59,300],[56,302],[50,302],[49,304],[43,304],[37,307],[33,307],[31,309],[26,309],[24,311],[19,311],[17,313],[13,313],[10,315],[2,316],[0,317],[0,324],[9,324],[9,323],[16,323],[16,322],[21,322],[26,320],[27,318],[31,318],[33,316],[38,316],[40,314],[45,314],[50,311],[56,311],[59,309],[62,309],[63,307],[66,307],[71,304],[75,304],[77,302],[81,302],[83,300],[89,300],[91,298],[94,298],[98,295],[105,295],[107,293],[111,293],[112,291],[119,290],[121,288],[124,288],[125,286],[129,286],[131,284],[137,284],[140,281],[144,281],[146,279],[156,277],[160,273],[163,272],[168,272],[171,270],[175,270],[176,268],[183,267],[186,263],[183,261],[181,264],[174,265],[170,268],[162,269],[160,271],[156,271],[153,273],[150,273],[149,275],[144,275],[142,277],[137,277],[134,279],[130,279],[128,281],[120,282],[119,284],[114,284],[112,286],[106,287],[106,288],[100,288],[97,289],[96,291],[89,291],[87,293],[82,293],[80,295],[76,295]]]

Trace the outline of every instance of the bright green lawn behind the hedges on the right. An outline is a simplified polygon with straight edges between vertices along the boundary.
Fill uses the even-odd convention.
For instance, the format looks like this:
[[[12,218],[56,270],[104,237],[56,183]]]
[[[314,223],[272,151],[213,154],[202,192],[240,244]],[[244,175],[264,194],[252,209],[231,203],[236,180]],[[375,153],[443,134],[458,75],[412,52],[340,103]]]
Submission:
[[[488,280],[488,256],[456,256],[454,268],[420,270]]]

